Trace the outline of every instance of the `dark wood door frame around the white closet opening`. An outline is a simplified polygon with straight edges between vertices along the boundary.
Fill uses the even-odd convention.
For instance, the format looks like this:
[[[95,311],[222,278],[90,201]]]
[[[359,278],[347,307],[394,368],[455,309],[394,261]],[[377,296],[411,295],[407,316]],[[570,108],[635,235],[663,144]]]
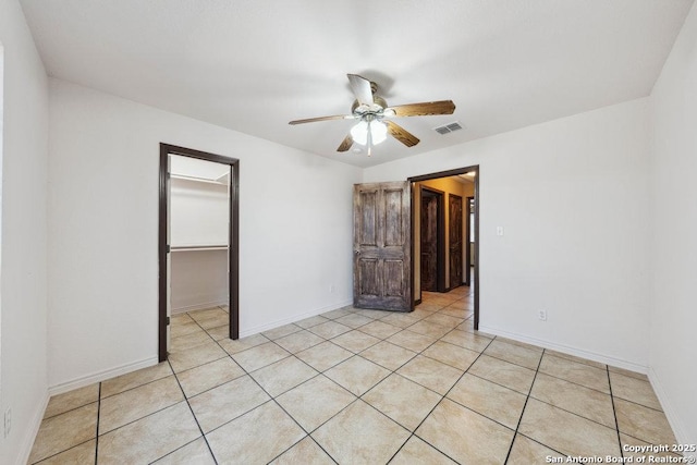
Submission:
[[[228,306],[230,310],[230,339],[240,338],[240,160],[207,151],[194,150],[160,143],[159,169],[159,233],[158,233],[158,359],[167,359],[167,243],[168,228],[168,158],[170,155],[197,158],[230,167],[230,223],[228,229]]]

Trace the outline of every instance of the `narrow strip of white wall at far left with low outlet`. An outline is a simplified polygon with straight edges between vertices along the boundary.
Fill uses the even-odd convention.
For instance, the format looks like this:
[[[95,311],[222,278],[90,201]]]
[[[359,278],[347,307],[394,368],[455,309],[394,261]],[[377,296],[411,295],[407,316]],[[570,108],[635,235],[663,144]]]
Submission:
[[[0,267],[0,463],[24,463],[47,401],[46,164],[48,87],[44,66],[15,0],[0,0],[4,49],[2,265]]]

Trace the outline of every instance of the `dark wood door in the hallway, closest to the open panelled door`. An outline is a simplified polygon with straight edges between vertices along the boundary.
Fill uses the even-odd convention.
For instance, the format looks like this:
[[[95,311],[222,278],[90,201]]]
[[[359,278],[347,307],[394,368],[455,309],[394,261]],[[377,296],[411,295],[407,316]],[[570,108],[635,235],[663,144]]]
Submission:
[[[421,291],[438,291],[438,196],[421,189]]]

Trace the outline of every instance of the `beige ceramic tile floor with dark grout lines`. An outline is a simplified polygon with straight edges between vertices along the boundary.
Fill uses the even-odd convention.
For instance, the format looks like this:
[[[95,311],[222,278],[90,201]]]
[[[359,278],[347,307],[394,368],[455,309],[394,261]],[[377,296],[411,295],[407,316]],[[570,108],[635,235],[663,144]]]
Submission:
[[[467,287],[231,341],[173,318],[168,363],[53,396],[29,463],[536,464],[675,442],[644,375],[473,329]]]

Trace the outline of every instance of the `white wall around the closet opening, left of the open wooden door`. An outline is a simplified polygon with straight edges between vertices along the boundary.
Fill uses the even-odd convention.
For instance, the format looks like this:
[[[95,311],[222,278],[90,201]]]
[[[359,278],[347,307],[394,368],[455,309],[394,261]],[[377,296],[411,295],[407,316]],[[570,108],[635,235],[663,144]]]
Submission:
[[[157,356],[160,142],[241,160],[241,335],[351,302],[359,169],[57,79],[49,124],[56,391]]]

